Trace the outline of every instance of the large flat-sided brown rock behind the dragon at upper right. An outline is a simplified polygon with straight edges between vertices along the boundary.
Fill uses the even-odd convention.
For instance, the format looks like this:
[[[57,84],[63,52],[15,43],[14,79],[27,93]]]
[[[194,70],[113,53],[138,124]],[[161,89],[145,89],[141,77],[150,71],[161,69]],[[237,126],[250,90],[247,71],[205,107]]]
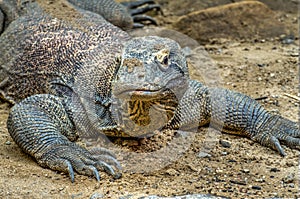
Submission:
[[[173,28],[200,43],[213,38],[270,38],[286,33],[274,12],[258,1],[243,1],[199,10],[182,16]]]

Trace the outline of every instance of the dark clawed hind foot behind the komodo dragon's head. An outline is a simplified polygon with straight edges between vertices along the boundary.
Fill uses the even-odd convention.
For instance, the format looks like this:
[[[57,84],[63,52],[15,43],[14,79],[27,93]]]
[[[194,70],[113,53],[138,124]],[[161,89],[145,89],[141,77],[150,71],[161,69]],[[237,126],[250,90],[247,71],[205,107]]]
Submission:
[[[144,27],[143,22],[146,21],[150,22],[151,24],[157,25],[157,22],[154,18],[143,14],[151,10],[161,11],[160,5],[156,4],[154,1],[140,0],[134,2],[123,2],[121,4],[123,4],[129,10],[129,13],[133,18],[134,28]]]

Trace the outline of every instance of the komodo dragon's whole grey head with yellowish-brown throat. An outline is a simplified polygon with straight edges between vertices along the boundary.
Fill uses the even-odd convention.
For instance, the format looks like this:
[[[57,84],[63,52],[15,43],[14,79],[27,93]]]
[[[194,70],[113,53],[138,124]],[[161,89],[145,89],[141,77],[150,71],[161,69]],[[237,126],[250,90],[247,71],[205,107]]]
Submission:
[[[113,82],[114,118],[130,136],[151,135],[173,117],[188,79],[178,43],[154,36],[131,39]]]

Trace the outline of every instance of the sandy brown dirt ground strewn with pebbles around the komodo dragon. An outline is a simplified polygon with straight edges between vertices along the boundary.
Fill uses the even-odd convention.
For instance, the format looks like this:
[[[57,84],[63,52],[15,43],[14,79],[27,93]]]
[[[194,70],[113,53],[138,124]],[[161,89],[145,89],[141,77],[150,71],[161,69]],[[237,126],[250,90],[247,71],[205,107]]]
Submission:
[[[186,14],[171,1],[160,3],[164,16],[158,16],[160,26],[170,27],[172,20]],[[178,1],[177,6],[187,6]],[[181,4],[182,3],[182,4]],[[214,5],[215,6],[215,5]],[[182,12],[179,12],[181,9]],[[194,8],[195,9],[195,8]],[[174,12],[173,12],[174,11]],[[271,112],[293,121],[299,113],[299,38],[298,14],[290,10],[275,10],[276,19],[284,21],[295,35],[292,42],[284,35],[278,37],[228,39],[213,38],[202,43],[198,52],[206,59],[197,60],[216,74],[217,86],[245,93],[259,101]],[[168,18],[169,20],[162,20]],[[242,19],[241,19],[242,20]],[[259,22],[258,22],[259,23]],[[288,44],[287,44],[288,43]],[[203,54],[199,55],[203,58]],[[210,68],[211,67],[211,68]],[[194,79],[207,80],[206,74],[191,71]],[[208,72],[208,73],[209,73]],[[208,75],[209,77],[209,75]],[[174,196],[209,193],[231,198],[297,198],[299,195],[299,152],[284,148],[287,156],[261,146],[247,138],[220,134],[201,128],[180,157],[169,165],[151,164],[147,172],[125,168],[121,179],[101,173],[101,181],[75,176],[71,183],[66,174],[40,167],[23,153],[9,136],[6,119],[9,105],[0,104],[0,198],[119,198],[133,195]],[[210,133],[209,133],[210,132]],[[222,144],[219,141],[222,141]],[[230,147],[223,145],[230,143]],[[122,153],[117,153],[122,154]],[[129,156],[128,156],[129,157]],[[127,164],[125,157],[118,156]],[[139,160],[136,160],[139,166]],[[131,165],[132,166],[132,165]],[[152,170],[152,172],[149,172]]]

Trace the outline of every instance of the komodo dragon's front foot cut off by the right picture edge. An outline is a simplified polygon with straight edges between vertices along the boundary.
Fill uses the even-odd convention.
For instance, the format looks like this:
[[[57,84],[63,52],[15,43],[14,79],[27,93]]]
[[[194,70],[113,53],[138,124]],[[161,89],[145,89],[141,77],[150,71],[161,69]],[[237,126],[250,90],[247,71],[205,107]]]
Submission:
[[[280,143],[300,149],[300,130],[297,123],[278,115],[272,116],[253,139],[278,151],[282,156],[286,154]]]

